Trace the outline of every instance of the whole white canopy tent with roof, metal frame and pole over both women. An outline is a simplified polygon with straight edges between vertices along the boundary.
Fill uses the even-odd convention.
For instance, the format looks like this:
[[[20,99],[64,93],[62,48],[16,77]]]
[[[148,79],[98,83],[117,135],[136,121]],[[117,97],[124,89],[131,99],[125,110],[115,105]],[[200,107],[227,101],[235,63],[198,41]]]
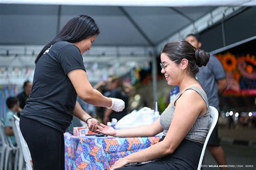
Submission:
[[[248,5],[256,5],[256,1],[0,0],[0,65],[22,60],[19,64],[32,66],[43,45],[70,18],[86,14],[95,19],[101,33],[92,50],[86,53],[85,63],[96,61],[111,65],[151,60],[156,101],[156,55],[163,45],[182,39],[187,33],[204,30]]]

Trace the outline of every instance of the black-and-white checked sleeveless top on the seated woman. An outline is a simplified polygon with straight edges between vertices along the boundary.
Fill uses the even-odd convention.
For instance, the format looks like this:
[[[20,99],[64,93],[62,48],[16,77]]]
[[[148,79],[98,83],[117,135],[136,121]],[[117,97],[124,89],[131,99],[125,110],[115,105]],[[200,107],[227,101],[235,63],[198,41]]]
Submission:
[[[198,94],[204,99],[206,103],[207,112],[202,116],[198,116],[191,130],[187,133],[185,139],[200,142],[203,144],[205,142],[210,124],[210,108],[208,104],[207,95],[203,89],[200,89],[196,86],[188,87],[186,90],[194,90],[198,92]],[[184,92],[186,90],[184,90]],[[176,99],[172,101],[171,106],[167,107],[165,111],[160,115],[160,125],[164,129],[164,135],[167,134],[169,127],[172,123],[172,118],[175,110],[175,103],[183,93],[180,93],[176,97]]]

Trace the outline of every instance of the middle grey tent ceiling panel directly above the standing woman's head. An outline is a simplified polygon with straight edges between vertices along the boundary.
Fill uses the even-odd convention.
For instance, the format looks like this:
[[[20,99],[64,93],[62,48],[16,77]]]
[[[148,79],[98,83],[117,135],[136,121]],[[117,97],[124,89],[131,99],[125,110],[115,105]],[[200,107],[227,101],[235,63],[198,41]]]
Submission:
[[[98,24],[100,35],[96,45],[150,45],[118,7],[62,6],[60,28],[80,14],[91,16]]]

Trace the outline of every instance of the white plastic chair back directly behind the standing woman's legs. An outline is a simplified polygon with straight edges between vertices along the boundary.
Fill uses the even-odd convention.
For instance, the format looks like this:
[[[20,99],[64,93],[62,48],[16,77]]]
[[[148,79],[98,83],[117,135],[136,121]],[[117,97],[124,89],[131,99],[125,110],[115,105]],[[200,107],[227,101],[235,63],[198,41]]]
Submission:
[[[16,138],[16,142],[20,144],[23,157],[25,160],[26,170],[32,170],[32,159],[29,151],[29,147],[26,144],[25,139],[23,138],[23,135],[21,133],[21,129],[19,128],[19,118],[14,115],[14,120],[12,122],[14,124],[14,134]]]

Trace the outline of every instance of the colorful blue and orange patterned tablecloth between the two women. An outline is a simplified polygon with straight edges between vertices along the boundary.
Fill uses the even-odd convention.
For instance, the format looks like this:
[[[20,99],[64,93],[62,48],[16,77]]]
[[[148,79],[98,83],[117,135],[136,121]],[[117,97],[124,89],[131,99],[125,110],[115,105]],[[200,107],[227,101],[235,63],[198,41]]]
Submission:
[[[65,169],[109,169],[119,158],[141,151],[156,144],[160,137],[114,138],[74,137],[65,138]]]

